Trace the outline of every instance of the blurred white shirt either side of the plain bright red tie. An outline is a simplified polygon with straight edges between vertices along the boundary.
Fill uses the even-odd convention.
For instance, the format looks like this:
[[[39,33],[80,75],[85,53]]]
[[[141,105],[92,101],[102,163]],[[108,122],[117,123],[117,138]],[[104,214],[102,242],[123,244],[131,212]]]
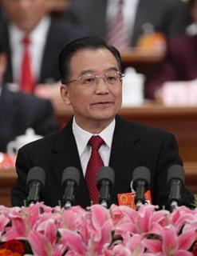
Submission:
[[[30,56],[33,66],[33,78],[37,81],[39,78],[41,70],[41,61],[45,49],[45,41],[50,26],[50,18],[45,16],[41,19],[41,22],[34,28],[30,33]],[[18,29],[18,26],[11,24],[9,27],[10,35],[10,48],[12,52],[12,67],[13,67],[13,78],[14,82],[19,83],[21,79],[21,66],[22,66],[22,38],[25,37],[25,34],[22,30]],[[51,60],[53,62],[53,60]]]

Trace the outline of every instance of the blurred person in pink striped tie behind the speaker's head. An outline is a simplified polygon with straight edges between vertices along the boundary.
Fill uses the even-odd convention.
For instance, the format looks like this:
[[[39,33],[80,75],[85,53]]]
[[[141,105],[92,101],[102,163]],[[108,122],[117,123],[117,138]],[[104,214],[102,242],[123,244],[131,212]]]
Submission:
[[[184,34],[188,24],[181,0],[73,0],[65,11],[68,17],[119,50],[138,46],[144,34],[160,32],[174,38]],[[118,31],[122,25],[124,34]]]

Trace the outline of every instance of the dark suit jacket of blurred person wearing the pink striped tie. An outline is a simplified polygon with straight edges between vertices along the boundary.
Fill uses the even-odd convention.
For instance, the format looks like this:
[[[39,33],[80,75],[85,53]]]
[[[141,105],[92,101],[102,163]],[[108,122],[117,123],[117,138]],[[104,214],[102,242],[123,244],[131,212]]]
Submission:
[[[99,36],[106,38],[107,0],[73,0],[65,18],[75,20],[82,26]],[[139,0],[136,18],[131,34],[131,46],[136,46],[143,25],[152,23],[156,31],[163,32],[167,38],[173,38],[185,33],[188,22],[187,8],[180,0]]]

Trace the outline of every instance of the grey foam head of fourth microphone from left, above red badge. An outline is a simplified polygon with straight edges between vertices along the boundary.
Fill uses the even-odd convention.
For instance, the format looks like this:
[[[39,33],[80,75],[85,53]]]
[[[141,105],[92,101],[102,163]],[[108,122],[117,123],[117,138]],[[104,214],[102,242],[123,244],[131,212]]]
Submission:
[[[146,190],[148,190],[150,186],[150,181],[151,181],[151,172],[148,170],[147,167],[145,166],[138,166],[136,169],[133,170],[132,173],[132,186],[133,189],[136,190],[136,186],[138,181],[144,181],[144,187]]]

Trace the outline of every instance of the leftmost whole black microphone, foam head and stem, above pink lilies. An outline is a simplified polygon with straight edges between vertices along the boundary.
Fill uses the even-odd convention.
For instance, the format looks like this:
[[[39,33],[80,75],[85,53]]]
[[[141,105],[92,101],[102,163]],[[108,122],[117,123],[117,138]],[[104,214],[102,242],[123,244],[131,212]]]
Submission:
[[[45,170],[39,166],[32,167],[27,174],[26,186],[29,189],[29,195],[27,197],[28,205],[38,202],[41,190],[45,186]]]

